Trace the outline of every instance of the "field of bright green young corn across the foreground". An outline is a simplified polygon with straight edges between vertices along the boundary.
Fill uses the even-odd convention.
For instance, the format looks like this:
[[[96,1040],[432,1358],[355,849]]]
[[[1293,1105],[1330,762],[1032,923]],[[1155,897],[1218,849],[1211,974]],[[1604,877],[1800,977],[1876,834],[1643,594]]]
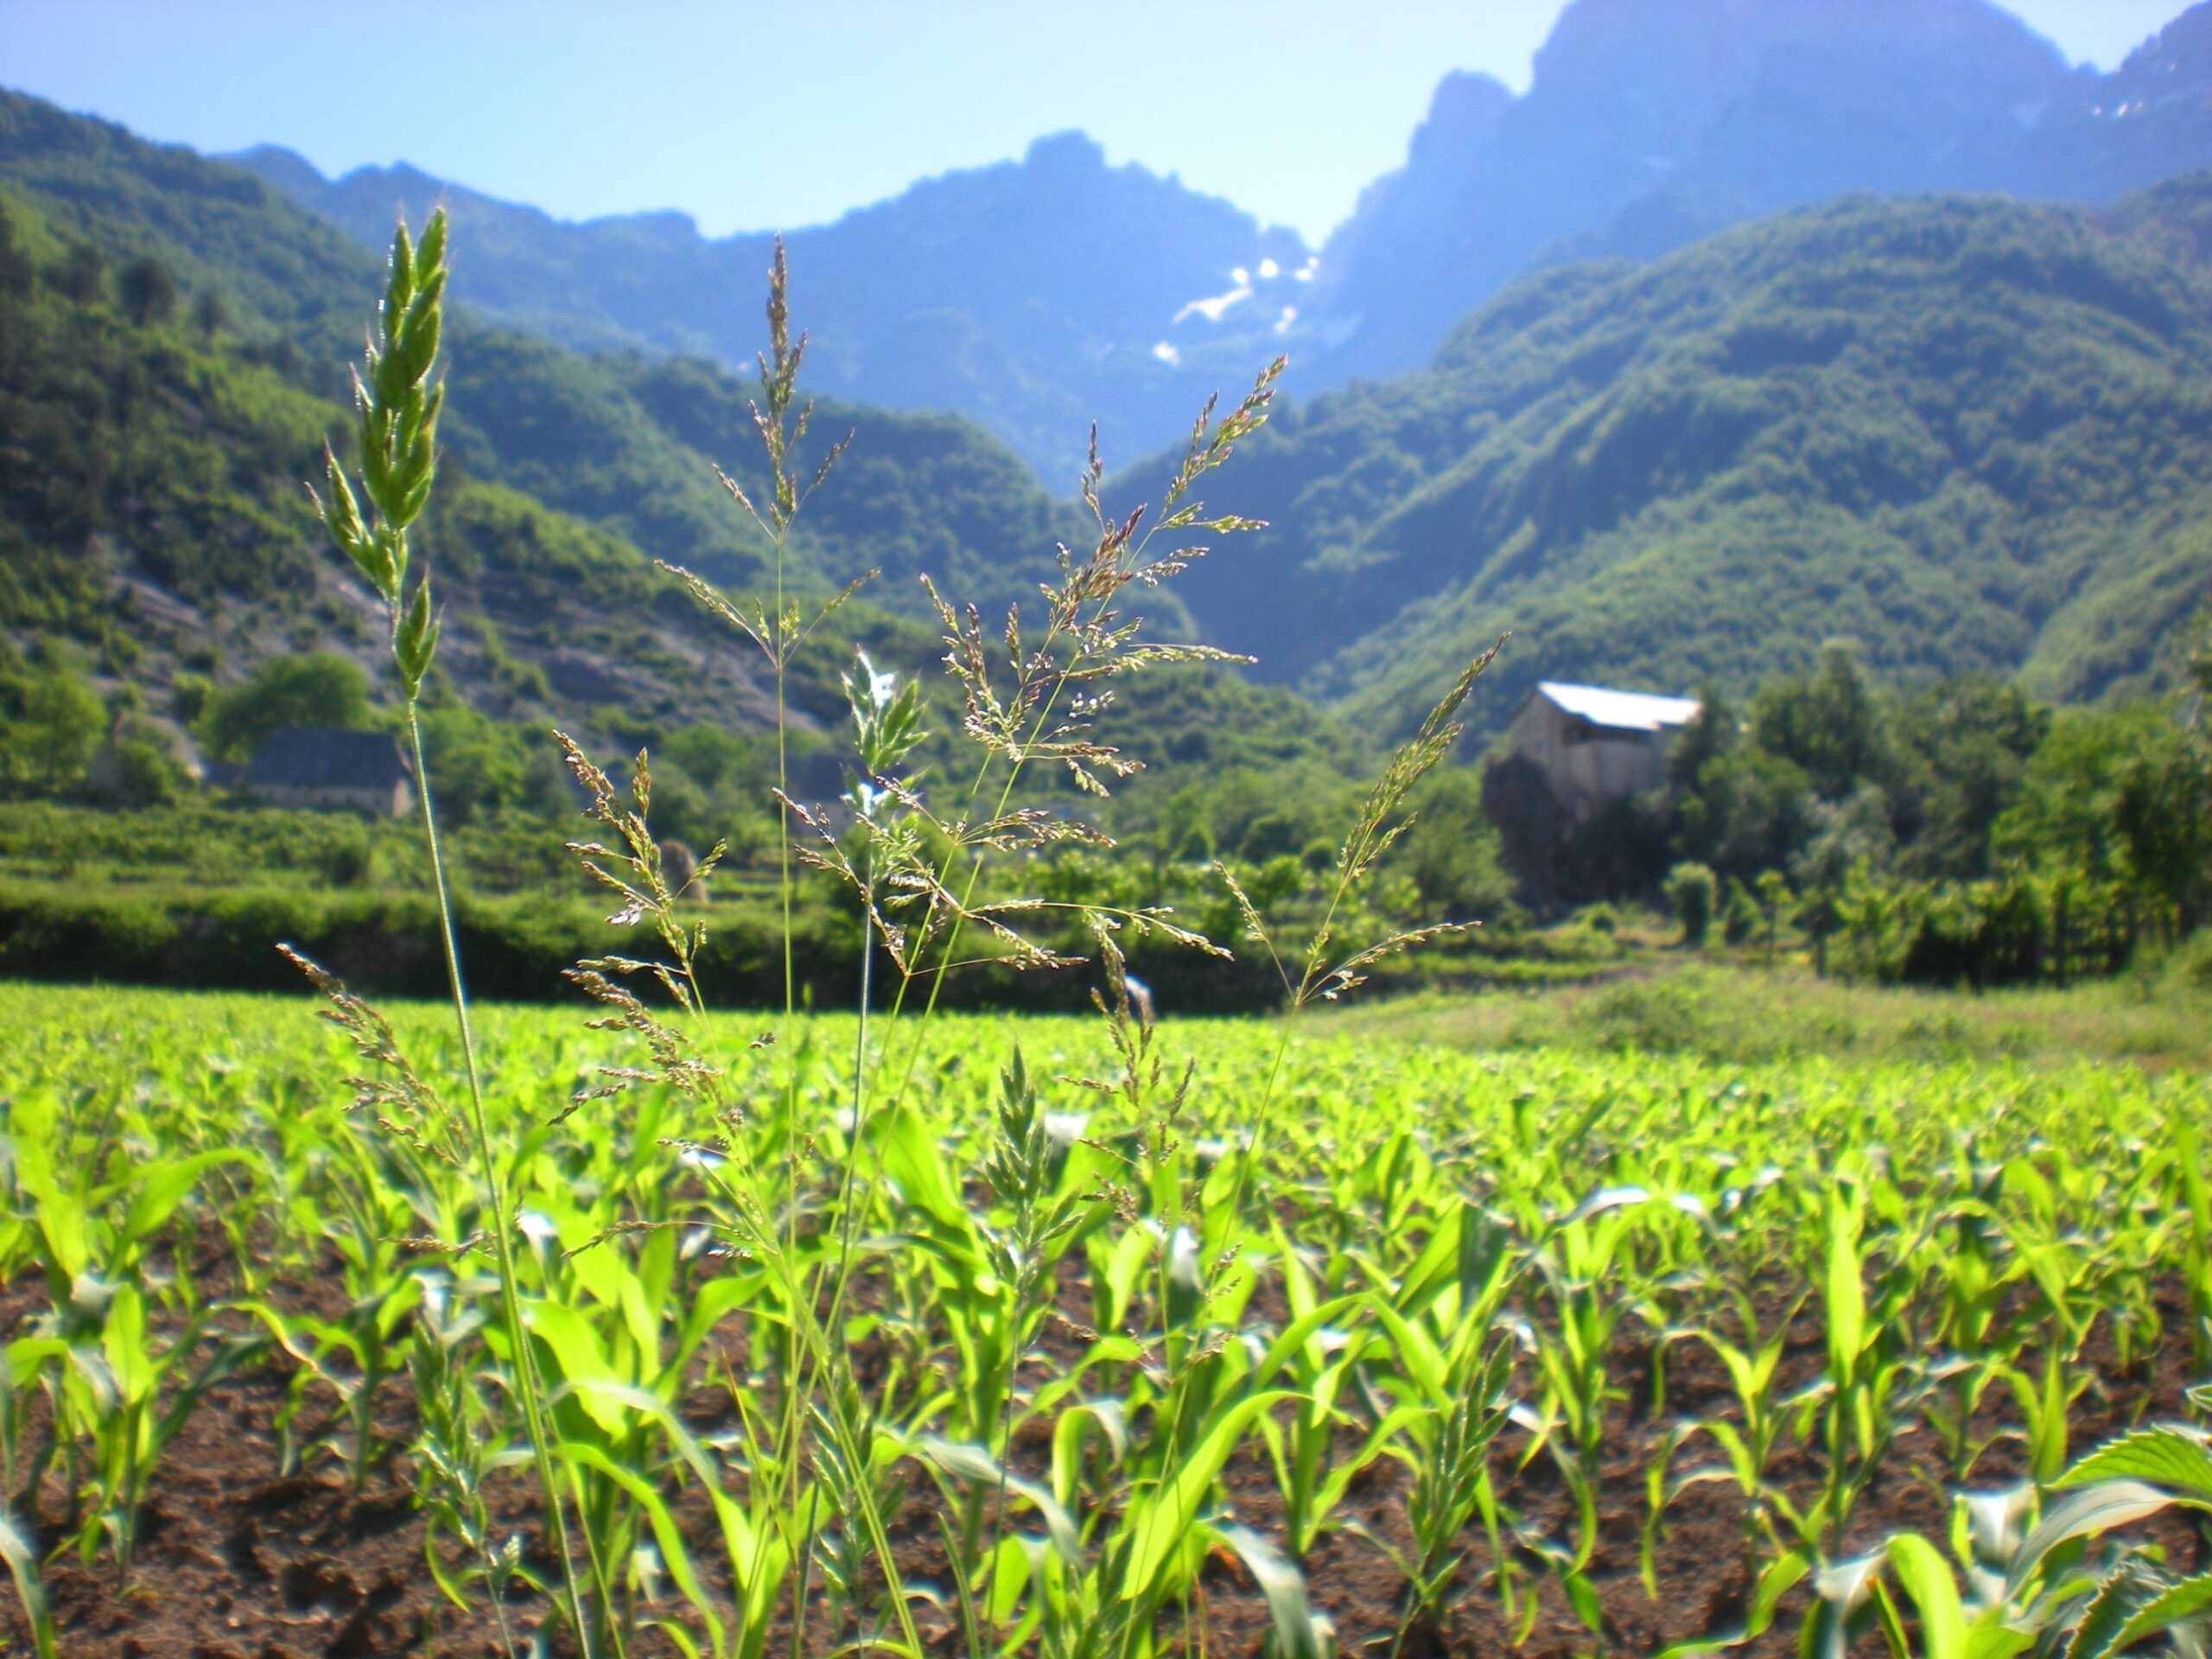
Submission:
[[[0,1015],[0,1261],[33,1287],[0,1416],[18,1571],[35,1528],[128,1579],[179,1433],[252,1380],[263,1480],[411,1482],[456,1628],[535,1624],[557,1573],[498,1281],[442,1243],[491,1221],[467,1172],[361,1133],[334,1079],[365,1062],[299,1000],[11,987]],[[701,1048],[776,1075],[754,1024],[710,1018]],[[436,1009],[394,1031],[453,1073]],[[770,1259],[723,1155],[670,1146],[668,1086],[544,1126],[622,1033],[484,1015],[608,1650],[898,1646],[902,1604],[962,1652],[1772,1646],[1829,1608],[1942,1652],[1933,1599],[1984,1652],[2106,1577],[2077,1535],[2006,1586],[2006,1526],[2017,1553],[2068,1467],[2205,1374],[2194,1077],[1139,1031],[1157,1053],[942,1018],[856,1148],[856,1022],[801,1022],[741,1130],[794,1168]],[[823,1340],[863,1438],[816,1407],[794,1458],[783,1402]],[[2205,1498],[2201,1442],[2172,1455],[2157,1493]],[[1741,1610],[1712,1628],[1681,1575]]]

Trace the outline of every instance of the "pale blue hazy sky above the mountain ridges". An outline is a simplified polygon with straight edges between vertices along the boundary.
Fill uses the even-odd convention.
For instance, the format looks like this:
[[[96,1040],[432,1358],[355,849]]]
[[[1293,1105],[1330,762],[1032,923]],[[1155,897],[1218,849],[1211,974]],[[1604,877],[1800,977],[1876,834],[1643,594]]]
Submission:
[[[834,219],[1082,126],[1310,241],[1447,69],[1526,86],[1562,0],[0,0],[0,84],[323,173],[407,159],[580,219]],[[2110,66],[2185,0],[2015,0]]]

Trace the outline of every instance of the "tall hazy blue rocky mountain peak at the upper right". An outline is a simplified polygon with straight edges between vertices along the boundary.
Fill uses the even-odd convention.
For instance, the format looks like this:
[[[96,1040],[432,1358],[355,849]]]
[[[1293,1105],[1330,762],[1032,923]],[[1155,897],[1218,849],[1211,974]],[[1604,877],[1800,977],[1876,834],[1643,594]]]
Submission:
[[[1849,192],[2106,201],[2212,164],[2212,2],[2110,75],[1991,0],[1573,0],[1522,97],[1449,75],[1323,246],[1305,385],[1427,365],[1473,305]]]

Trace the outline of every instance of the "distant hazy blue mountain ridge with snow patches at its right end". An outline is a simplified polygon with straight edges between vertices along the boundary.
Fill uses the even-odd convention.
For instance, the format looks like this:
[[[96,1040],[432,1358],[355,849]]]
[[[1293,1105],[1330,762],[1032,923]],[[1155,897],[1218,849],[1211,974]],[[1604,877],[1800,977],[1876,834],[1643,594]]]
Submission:
[[[409,166],[323,179],[279,148],[230,157],[356,241],[442,201],[453,290],[473,310],[580,349],[637,347],[748,365],[772,237],[701,237],[681,212],[564,223]],[[787,237],[814,385],[889,409],[958,409],[1073,491],[1086,434],[1135,453],[1265,361],[1254,336],[1303,294],[1307,250],[1225,201],[1082,133],[1020,161],[925,179]],[[1239,323],[1219,316],[1237,307]]]

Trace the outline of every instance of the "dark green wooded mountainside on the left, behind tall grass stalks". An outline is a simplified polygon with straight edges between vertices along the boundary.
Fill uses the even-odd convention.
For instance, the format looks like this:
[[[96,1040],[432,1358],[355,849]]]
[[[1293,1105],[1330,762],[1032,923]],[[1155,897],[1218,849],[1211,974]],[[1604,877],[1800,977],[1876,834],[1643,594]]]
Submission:
[[[0,206],[0,633],[15,648],[73,635],[155,695],[188,657],[228,677],[327,635],[374,659],[301,480],[325,438],[343,447],[378,257],[239,168],[11,93]],[[765,542],[712,471],[763,487],[745,387],[695,358],[580,356],[462,310],[447,396],[429,540],[471,699],[533,719],[690,706],[759,726],[750,646],[650,568],[668,557],[768,586]],[[933,628],[872,606],[922,617],[920,571],[982,604],[1033,593],[1055,542],[1082,531],[958,416],[823,403],[807,465],[847,429],[787,575],[827,595],[880,568],[845,633],[898,641],[902,661],[933,655]],[[818,668],[816,712],[834,717],[834,666]],[[518,701],[513,686],[540,690]]]

